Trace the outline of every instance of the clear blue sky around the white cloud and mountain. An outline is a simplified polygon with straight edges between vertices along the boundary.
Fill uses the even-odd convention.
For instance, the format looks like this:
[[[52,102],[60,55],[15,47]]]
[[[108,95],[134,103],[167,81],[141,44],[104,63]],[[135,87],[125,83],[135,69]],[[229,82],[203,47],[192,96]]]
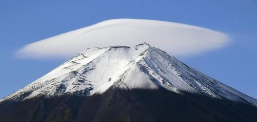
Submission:
[[[186,23],[229,35],[228,46],[177,57],[257,99],[257,1],[0,1],[0,97],[42,77],[67,59],[17,58],[28,43],[107,19]]]

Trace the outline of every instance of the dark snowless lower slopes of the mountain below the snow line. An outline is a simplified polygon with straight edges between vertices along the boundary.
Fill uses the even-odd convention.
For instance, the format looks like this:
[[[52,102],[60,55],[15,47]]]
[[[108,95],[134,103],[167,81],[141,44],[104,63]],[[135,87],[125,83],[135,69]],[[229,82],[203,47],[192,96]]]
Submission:
[[[197,94],[110,89],[0,104],[0,121],[257,121],[257,108]]]

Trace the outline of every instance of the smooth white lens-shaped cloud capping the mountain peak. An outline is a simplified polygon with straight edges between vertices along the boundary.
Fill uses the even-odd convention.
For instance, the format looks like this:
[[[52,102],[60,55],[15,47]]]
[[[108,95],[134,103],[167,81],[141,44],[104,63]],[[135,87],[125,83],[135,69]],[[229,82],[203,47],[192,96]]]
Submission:
[[[111,19],[25,45],[21,57],[71,57],[87,48],[149,43],[173,56],[214,50],[228,43],[224,33],[181,23]]]

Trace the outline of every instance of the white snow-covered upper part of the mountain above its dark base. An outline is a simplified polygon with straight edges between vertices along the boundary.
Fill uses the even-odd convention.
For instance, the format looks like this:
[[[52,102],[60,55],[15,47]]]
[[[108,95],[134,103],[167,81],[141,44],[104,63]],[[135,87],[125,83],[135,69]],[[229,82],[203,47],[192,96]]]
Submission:
[[[147,43],[134,47],[88,49],[0,102],[21,101],[41,95],[92,95],[103,93],[110,87],[127,90],[163,87],[176,93],[197,93],[257,106],[255,99]]]

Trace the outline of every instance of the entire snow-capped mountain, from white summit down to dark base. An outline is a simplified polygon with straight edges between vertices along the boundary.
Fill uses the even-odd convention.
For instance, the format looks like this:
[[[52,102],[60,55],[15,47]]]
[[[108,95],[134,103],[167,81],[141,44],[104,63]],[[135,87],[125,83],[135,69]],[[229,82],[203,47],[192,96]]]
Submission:
[[[5,121],[257,121],[257,100],[164,51],[92,48],[0,100]]]

